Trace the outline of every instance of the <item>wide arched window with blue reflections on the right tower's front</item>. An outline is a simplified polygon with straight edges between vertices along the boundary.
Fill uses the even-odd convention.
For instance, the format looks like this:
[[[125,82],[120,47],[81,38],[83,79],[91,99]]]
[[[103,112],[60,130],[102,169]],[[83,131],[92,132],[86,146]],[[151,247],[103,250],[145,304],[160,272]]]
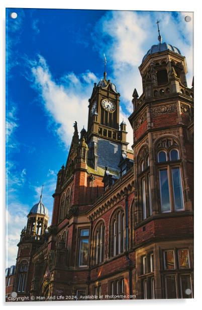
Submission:
[[[175,148],[173,148],[173,146]],[[165,151],[158,148],[163,147]],[[179,160],[178,142],[174,138],[162,138],[157,144],[158,154],[158,179],[161,212],[175,212],[184,210],[182,178]],[[169,161],[166,162],[166,153],[169,154]],[[173,163],[172,163],[173,162]]]

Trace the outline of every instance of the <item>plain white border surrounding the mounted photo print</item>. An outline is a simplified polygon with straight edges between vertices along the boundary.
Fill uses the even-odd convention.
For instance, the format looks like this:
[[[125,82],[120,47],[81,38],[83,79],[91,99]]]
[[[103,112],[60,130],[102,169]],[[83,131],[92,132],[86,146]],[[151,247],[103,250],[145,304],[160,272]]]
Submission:
[[[13,7],[13,8],[52,8],[52,9],[107,9],[107,10],[145,10],[145,11],[186,11],[186,12],[194,12],[194,62],[195,64],[195,221],[194,221],[194,244],[195,244],[195,258],[194,258],[194,266],[195,266],[195,292],[194,292],[194,299],[178,299],[178,300],[135,300],[135,301],[68,301],[68,306],[73,306],[76,308],[89,308],[98,307],[110,307],[115,306],[121,308],[121,306],[131,306],[137,307],[141,306],[141,308],[150,308],[150,309],[157,309],[162,308],[162,305],[165,309],[169,309],[170,307],[177,307],[178,309],[182,308],[183,310],[189,309],[190,307],[195,306],[196,304],[200,304],[201,300],[201,267],[200,267],[200,258],[202,247],[197,246],[200,245],[200,236],[201,236],[201,201],[200,201],[200,192],[201,192],[201,169],[200,169],[200,159],[201,159],[201,117],[202,117],[202,104],[201,100],[199,100],[199,90],[201,89],[201,79],[200,79],[200,72],[202,71],[201,68],[201,10],[200,10],[200,3],[197,0],[192,0],[185,2],[184,0],[167,0],[167,1],[159,1],[159,0],[152,0],[148,1],[145,0],[144,2],[137,2],[131,0],[125,0],[124,2],[118,1],[109,1],[109,0],[102,0],[102,1],[93,1],[93,0],[85,0],[85,1],[68,1],[68,0],[57,0],[57,1],[47,1],[47,0],[2,0],[0,2],[0,18],[1,18],[1,33],[0,33],[0,46],[1,46],[1,53],[0,53],[0,67],[3,68],[1,76],[0,76],[0,85],[1,85],[1,111],[0,111],[0,124],[1,124],[1,131],[0,131],[0,145],[1,145],[1,152],[0,152],[0,169],[1,169],[1,178],[0,178],[0,197],[1,197],[1,211],[2,211],[2,223],[1,223],[1,241],[2,241],[2,253],[1,255],[1,270],[3,275],[2,285],[1,285],[1,303],[3,306],[8,307],[21,307],[21,306],[36,306],[37,307],[50,307],[50,306],[67,306],[66,302],[38,302],[37,304],[34,302],[19,302],[19,303],[5,303],[5,8],[6,7]],[[199,58],[200,57],[200,58]],[[197,180],[199,182],[197,182]],[[193,305],[194,303],[194,305]]]

